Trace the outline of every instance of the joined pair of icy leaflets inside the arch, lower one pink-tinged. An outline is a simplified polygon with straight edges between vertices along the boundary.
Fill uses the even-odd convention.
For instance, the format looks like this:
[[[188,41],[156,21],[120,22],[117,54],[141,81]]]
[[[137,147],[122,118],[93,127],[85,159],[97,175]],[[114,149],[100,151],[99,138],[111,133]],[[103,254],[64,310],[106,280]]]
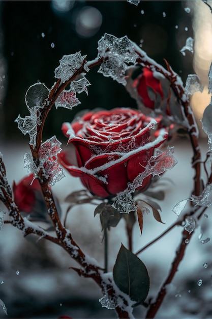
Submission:
[[[80,104],[80,101],[76,97],[76,93],[81,93],[83,91],[87,92],[87,86],[90,83],[85,77],[80,78],[78,81],[72,81],[70,84],[70,90],[62,91],[55,101],[55,108],[66,108],[72,110],[73,107]]]

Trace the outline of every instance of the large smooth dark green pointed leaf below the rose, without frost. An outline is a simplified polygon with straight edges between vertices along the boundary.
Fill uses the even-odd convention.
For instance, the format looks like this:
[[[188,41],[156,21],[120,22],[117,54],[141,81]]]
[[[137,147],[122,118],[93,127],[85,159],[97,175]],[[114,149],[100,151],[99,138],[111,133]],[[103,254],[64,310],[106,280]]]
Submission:
[[[144,263],[123,245],[115,261],[113,279],[116,286],[137,304],[146,299],[149,291],[147,269]]]

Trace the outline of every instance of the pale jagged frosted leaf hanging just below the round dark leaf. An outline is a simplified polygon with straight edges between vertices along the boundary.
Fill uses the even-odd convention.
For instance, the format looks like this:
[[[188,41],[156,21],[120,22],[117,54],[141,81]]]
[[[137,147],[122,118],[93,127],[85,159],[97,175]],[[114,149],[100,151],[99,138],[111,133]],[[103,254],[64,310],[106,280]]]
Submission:
[[[19,114],[15,122],[18,123],[18,128],[23,135],[29,135],[29,144],[35,146],[37,136],[37,118],[33,118],[32,116],[25,116],[22,118]]]

